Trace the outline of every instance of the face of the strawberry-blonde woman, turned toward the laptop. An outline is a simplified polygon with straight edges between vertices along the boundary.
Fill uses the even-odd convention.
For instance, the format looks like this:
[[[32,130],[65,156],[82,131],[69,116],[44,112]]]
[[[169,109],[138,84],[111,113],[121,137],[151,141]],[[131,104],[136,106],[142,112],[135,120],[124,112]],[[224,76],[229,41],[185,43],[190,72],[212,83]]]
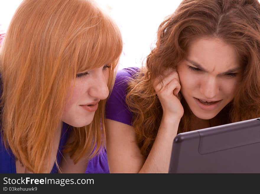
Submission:
[[[67,93],[63,122],[74,127],[92,122],[98,102],[108,97],[109,67],[105,65],[77,74],[75,85],[72,82]]]

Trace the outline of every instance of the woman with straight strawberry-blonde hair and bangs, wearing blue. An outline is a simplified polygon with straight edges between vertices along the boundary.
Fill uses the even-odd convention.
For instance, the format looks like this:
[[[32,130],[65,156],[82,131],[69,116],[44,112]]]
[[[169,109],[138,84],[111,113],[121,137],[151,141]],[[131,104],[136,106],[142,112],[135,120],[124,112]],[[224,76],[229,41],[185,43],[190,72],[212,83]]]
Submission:
[[[22,1],[1,51],[2,173],[109,172],[104,108],[121,51],[93,2]]]

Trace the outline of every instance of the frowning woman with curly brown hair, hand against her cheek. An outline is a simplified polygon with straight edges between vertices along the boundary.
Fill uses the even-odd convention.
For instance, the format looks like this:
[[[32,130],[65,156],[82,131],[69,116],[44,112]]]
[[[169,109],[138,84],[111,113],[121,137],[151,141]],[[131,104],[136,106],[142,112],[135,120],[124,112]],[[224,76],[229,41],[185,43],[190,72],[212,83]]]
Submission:
[[[110,172],[167,173],[177,133],[259,117],[259,2],[183,0],[160,24],[146,66],[116,76]]]

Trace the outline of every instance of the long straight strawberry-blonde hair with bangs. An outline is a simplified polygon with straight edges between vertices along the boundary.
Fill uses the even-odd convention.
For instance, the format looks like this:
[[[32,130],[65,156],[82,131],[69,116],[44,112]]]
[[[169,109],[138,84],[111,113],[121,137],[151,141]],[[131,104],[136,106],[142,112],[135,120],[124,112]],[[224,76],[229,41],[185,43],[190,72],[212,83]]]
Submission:
[[[118,27],[91,1],[20,4],[1,53],[1,132],[5,146],[26,169],[49,169],[66,92],[77,72],[108,63],[111,90],[121,51]],[[105,145],[104,109],[101,100],[92,123],[71,132],[75,141],[65,151],[75,163],[85,155],[91,159]]]

